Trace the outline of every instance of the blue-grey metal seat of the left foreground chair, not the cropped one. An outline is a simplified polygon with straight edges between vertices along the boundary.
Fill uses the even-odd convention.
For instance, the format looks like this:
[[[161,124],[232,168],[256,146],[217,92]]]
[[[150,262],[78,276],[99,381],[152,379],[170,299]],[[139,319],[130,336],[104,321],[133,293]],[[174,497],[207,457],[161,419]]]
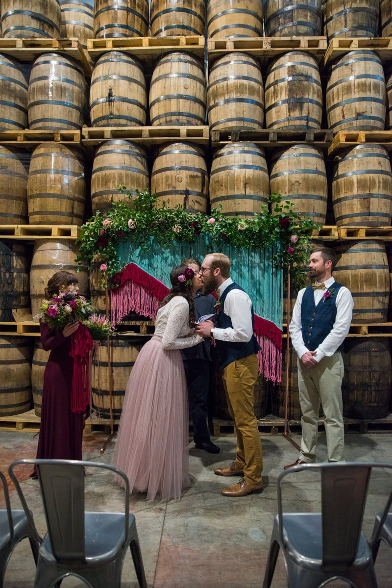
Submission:
[[[125,539],[125,514],[108,512],[85,513],[86,563],[110,562],[122,549]],[[129,529],[135,525],[135,517],[129,515]],[[43,537],[40,556],[48,563],[57,564],[48,533]]]

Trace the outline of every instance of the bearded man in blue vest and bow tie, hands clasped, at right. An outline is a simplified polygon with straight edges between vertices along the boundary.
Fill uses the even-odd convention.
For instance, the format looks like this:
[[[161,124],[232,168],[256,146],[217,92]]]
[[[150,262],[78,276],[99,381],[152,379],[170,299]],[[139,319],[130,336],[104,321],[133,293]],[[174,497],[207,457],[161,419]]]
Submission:
[[[314,283],[299,291],[290,322],[297,352],[302,439],[299,459],[284,469],[316,460],[320,402],[325,415],[329,462],[344,462],[340,350],[350,329],[353,297],[331,276],[336,255],[327,247],[313,251],[309,277]]]

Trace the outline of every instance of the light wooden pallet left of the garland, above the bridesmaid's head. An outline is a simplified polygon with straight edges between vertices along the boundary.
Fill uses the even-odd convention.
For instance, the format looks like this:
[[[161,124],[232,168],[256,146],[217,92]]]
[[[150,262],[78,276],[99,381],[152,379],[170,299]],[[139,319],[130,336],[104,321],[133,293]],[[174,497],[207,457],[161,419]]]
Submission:
[[[76,225],[0,225],[0,239],[79,239],[81,227]]]

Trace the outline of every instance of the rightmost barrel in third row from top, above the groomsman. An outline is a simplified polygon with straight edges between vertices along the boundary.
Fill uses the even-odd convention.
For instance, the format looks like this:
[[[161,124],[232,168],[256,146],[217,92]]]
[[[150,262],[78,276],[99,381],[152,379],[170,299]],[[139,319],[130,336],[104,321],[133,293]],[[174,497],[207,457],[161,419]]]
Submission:
[[[390,225],[392,173],[386,149],[356,145],[335,161],[332,202],[337,226]]]

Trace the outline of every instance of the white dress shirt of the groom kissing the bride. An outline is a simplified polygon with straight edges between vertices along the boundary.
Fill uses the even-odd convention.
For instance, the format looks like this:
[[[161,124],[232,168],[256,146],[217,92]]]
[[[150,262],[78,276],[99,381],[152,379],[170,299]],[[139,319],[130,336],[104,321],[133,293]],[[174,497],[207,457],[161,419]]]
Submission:
[[[219,288],[216,289],[217,295],[222,296],[227,286],[233,283],[232,278],[227,278]],[[252,339],[253,326],[252,326],[252,300],[243,290],[235,288],[230,290],[225,299],[225,304],[221,312],[225,312],[225,315],[230,316],[232,319],[233,328],[228,327],[227,329],[212,329],[212,335],[214,339],[220,341],[230,341],[233,343],[247,343]]]

